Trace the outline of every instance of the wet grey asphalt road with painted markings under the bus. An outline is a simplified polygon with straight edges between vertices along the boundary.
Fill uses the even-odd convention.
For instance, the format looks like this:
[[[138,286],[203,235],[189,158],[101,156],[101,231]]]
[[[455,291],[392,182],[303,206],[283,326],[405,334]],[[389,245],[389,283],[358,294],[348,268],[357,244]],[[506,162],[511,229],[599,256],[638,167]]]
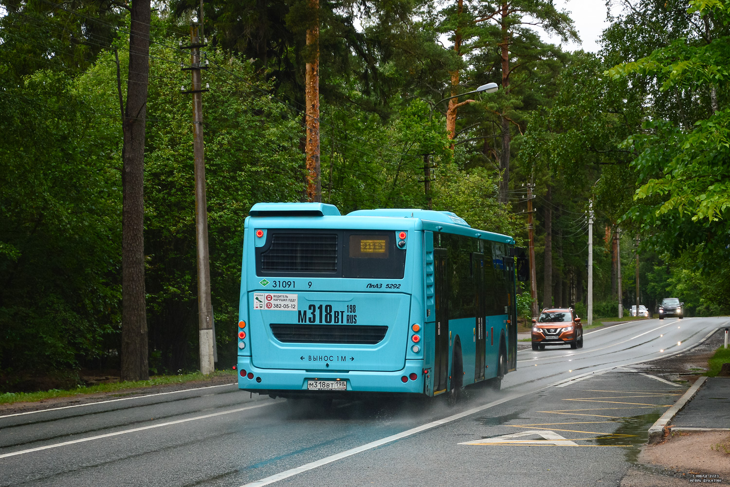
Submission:
[[[6,416],[0,486],[616,485],[685,390],[631,364],[727,321],[648,320],[586,332],[579,350],[521,350],[501,392],[456,407],[302,411],[217,386]]]

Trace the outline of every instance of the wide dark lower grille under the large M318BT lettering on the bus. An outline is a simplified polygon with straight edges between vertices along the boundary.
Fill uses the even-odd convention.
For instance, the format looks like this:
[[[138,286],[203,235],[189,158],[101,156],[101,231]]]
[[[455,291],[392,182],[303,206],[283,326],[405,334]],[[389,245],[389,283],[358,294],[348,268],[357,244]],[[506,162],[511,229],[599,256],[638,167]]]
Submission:
[[[272,324],[272,333],[284,343],[360,343],[383,341],[388,326]]]

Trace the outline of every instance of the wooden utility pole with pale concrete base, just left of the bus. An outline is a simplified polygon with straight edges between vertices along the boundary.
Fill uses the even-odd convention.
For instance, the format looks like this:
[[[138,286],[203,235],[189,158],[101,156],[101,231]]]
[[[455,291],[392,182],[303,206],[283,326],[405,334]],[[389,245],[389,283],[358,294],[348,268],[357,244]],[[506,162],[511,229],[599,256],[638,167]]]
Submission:
[[[201,10],[202,25],[202,10]],[[198,331],[200,338],[200,372],[208,375],[215,366],[215,335],[213,332],[213,310],[210,299],[210,256],[208,255],[208,211],[205,196],[205,163],[203,158],[203,101],[202,93],[209,91],[202,88],[201,69],[207,69],[200,62],[200,48],[207,45],[206,39],[198,36],[198,28],[191,25],[190,45],[191,66],[183,67],[193,75],[191,90],[183,93],[193,95],[193,158],[195,160],[195,234],[198,248]]]

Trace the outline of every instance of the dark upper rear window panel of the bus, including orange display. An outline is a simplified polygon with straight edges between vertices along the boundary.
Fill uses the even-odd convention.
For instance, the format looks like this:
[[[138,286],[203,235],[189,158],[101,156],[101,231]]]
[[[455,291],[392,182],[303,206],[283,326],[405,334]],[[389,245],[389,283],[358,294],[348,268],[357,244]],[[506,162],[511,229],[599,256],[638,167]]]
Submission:
[[[260,276],[402,279],[406,250],[394,231],[269,230],[256,247]]]

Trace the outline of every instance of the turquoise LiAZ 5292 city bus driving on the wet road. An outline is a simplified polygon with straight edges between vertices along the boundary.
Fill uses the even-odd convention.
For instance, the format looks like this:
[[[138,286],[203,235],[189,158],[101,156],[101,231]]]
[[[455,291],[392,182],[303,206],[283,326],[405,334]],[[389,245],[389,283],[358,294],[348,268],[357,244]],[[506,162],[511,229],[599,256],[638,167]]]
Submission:
[[[239,388],[272,397],[499,388],[517,363],[515,241],[452,212],[254,204]]]

